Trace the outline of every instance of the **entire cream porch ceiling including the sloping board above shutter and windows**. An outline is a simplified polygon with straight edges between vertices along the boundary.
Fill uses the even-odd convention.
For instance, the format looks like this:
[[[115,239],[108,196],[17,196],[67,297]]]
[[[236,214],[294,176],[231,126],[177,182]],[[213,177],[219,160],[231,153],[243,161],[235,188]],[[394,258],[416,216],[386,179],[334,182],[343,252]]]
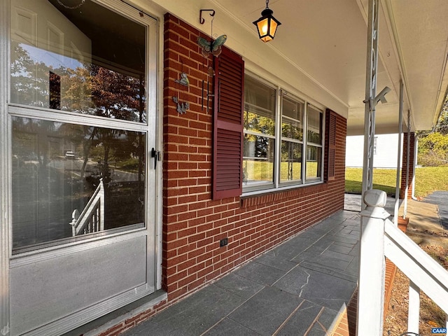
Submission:
[[[142,8],[146,0],[134,0]],[[210,34],[211,20],[200,25],[200,9],[216,10],[213,32],[227,34],[226,45],[246,66],[288,85],[348,120],[347,134],[364,133],[367,0],[271,0],[281,22],[273,41],[258,40],[253,21],[265,0],[151,0]],[[378,104],[376,132],[398,132],[400,78],[405,84],[404,113],[411,129],[430,130],[448,87],[448,1],[381,0],[377,92],[391,88],[388,103]],[[258,71],[257,71],[258,72]],[[407,127],[405,125],[405,127]]]

